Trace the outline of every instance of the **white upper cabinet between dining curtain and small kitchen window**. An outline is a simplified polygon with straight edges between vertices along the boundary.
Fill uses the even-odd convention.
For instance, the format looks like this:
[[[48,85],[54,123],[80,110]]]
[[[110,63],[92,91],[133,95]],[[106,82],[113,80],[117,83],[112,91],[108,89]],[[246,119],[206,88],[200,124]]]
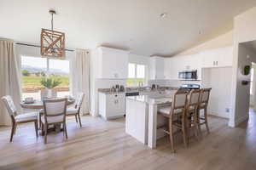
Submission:
[[[100,47],[96,49],[97,78],[126,79],[129,51]]]

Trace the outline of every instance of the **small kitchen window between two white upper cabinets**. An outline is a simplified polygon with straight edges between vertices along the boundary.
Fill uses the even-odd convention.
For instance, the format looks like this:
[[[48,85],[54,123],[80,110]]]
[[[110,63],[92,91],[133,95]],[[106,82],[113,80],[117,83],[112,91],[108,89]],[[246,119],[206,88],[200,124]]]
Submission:
[[[146,82],[146,65],[129,63],[127,86],[138,86],[140,82]]]

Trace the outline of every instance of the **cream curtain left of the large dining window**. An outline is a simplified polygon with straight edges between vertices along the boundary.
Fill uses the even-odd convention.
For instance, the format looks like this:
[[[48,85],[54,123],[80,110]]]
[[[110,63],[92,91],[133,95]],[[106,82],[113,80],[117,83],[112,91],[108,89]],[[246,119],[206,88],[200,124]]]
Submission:
[[[20,59],[15,55],[15,42],[0,39],[0,98],[10,95],[20,110]],[[10,125],[10,117],[0,101],[0,125]]]

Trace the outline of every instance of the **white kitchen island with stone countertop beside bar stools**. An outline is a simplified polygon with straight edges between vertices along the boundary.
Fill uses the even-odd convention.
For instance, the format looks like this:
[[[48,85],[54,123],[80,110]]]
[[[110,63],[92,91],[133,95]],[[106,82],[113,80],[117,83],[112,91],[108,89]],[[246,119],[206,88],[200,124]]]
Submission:
[[[157,115],[160,106],[172,105],[176,90],[168,93],[131,96],[126,98],[125,132],[133,138],[155,148],[156,140],[165,134],[157,127],[166,123],[166,118]]]

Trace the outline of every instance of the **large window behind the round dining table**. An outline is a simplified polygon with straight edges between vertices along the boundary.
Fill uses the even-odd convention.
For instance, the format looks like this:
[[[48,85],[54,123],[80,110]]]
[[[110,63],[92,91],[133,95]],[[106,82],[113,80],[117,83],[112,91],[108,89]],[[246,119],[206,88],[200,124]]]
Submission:
[[[61,84],[55,89],[58,97],[69,95],[69,61],[41,57],[21,56],[22,99],[41,99],[41,79],[49,76],[59,79]]]

